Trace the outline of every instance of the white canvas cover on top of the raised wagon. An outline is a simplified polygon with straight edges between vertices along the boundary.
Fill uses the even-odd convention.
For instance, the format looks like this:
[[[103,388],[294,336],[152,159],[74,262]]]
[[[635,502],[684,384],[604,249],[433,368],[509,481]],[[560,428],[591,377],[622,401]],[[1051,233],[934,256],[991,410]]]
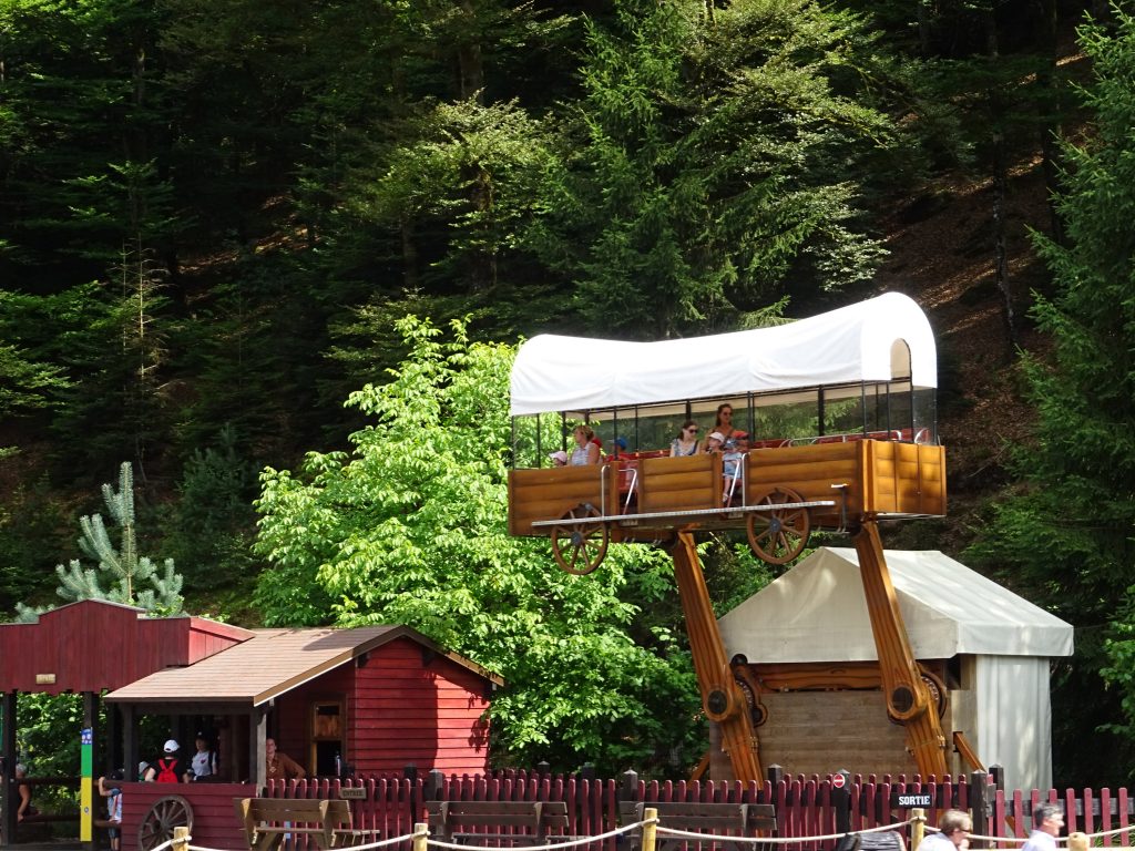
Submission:
[[[909,378],[938,386],[930,322],[886,293],[818,317],[711,337],[628,343],[544,334],[512,369],[512,414],[602,411]]]

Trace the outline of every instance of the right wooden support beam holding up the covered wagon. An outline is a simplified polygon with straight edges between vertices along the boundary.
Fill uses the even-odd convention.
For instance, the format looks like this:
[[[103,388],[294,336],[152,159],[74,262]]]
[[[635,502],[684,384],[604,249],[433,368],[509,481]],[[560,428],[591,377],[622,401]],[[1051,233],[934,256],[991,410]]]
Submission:
[[[915,758],[923,778],[931,775],[944,778],[948,769],[942,722],[907,639],[907,627],[883,557],[875,520],[863,522],[855,536],[855,548],[859,554],[859,574],[878,652],[886,711],[906,727],[907,750]]]

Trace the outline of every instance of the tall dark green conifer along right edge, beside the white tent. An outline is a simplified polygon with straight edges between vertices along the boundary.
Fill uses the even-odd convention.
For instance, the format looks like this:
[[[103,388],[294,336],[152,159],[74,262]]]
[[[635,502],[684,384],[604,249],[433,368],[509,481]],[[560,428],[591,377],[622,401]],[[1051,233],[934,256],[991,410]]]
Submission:
[[[1068,785],[1121,785],[1135,745],[1135,18],[1116,14],[1113,33],[1079,31],[1093,126],[1088,143],[1062,145],[1067,244],[1036,237],[1054,295],[1032,312],[1051,351],[1024,360],[1034,440],[968,554],[1077,627],[1053,691],[1053,757]],[[1123,735],[1084,747],[1088,731]]]

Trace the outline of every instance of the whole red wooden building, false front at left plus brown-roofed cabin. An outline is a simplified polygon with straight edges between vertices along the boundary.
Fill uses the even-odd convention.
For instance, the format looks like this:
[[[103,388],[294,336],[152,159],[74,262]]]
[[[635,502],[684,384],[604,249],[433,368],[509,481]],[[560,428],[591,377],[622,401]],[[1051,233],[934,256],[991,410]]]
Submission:
[[[421,772],[480,773],[488,760],[482,716],[502,684],[405,626],[244,630],[199,617],[149,618],[96,600],[64,606],[37,623],[0,625],[0,844],[15,834],[22,691],[84,694],[82,726],[94,733],[95,775],[125,766],[132,776],[140,759],[158,756],[141,752],[142,716],[165,716],[186,757],[195,731],[208,728],[221,753],[221,782],[178,785],[176,793],[201,810],[195,840],[210,845],[216,828],[226,842],[212,846],[226,848],[235,827],[232,799],[264,786],[267,738],[309,777],[401,772],[411,764]],[[102,699],[112,710],[109,728],[100,730],[107,691]],[[151,815],[145,802],[173,791],[163,785],[123,786],[124,849],[135,846],[131,840]]]

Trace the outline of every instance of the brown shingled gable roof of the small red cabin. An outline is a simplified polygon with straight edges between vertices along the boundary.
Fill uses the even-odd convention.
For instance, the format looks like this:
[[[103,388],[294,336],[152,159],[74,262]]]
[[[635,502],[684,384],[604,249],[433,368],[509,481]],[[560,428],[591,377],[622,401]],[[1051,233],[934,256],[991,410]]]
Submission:
[[[229,702],[260,706],[398,638],[503,684],[496,674],[409,626],[253,630],[253,638],[185,668],[159,671],[107,694],[109,702]]]

